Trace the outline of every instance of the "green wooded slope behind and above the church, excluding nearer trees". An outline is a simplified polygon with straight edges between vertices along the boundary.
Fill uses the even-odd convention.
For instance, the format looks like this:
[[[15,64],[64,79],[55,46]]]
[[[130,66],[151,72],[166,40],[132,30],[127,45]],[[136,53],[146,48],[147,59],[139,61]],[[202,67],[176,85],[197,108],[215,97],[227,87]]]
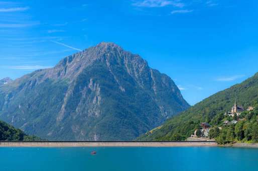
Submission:
[[[185,140],[201,122],[217,125],[220,116],[231,110],[235,100],[245,109],[258,104],[258,73],[172,117],[162,127],[142,135],[138,140]]]

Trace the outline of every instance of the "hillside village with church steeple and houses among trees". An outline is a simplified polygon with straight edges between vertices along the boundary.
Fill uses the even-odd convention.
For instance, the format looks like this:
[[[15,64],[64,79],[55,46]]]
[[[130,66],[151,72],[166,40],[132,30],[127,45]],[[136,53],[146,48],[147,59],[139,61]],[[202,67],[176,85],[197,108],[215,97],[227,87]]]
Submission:
[[[246,121],[247,118],[245,116],[242,116],[241,114],[242,113],[248,113],[248,112],[250,113],[254,109],[255,109],[254,107],[249,106],[245,110],[241,105],[238,105],[235,101],[234,106],[231,108],[231,111],[225,112],[222,125],[211,126],[209,123],[202,122],[200,124],[200,128],[195,129],[194,133],[187,140],[191,140],[191,141],[193,141],[193,140],[196,140],[196,141],[215,140],[214,138],[216,138],[216,136],[214,136],[214,129],[216,129],[215,134],[217,134],[217,136],[218,136],[219,132],[223,129],[223,127],[228,127],[230,125],[235,125],[239,121]],[[258,122],[258,119],[256,119],[256,121]],[[212,129],[212,135],[210,135],[210,130],[211,129]]]

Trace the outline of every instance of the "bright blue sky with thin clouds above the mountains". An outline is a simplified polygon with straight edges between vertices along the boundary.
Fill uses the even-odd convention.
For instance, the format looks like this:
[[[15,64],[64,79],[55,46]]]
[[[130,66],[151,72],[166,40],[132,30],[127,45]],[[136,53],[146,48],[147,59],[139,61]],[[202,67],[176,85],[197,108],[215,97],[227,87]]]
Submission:
[[[258,71],[257,30],[252,0],[0,0],[0,78],[114,42],[168,74],[193,105]]]

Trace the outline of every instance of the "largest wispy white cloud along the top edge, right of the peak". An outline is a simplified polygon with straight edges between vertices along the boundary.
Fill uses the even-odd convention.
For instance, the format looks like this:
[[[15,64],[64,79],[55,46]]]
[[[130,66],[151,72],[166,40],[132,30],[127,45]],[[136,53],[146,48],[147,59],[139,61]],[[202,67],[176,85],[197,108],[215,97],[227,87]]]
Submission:
[[[185,5],[180,1],[169,1],[169,0],[144,0],[140,2],[133,3],[133,6],[136,7],[146,7],[146,8],[157,8],[157,7],[166,7],[166,6],[174,6],[174,7],[184,7]]]

